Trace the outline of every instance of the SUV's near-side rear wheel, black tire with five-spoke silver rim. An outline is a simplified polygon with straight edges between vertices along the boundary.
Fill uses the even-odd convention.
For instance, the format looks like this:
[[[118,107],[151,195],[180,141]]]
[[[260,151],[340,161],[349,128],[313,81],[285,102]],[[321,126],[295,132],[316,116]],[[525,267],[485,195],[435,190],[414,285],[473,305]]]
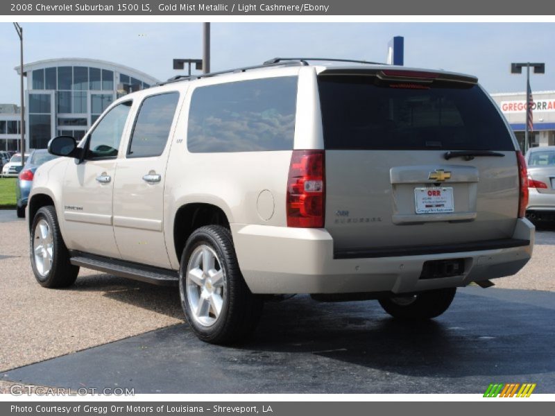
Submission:
[[[231,233],[220,225],[194,231],[180,262],[179,292],[189,326],[207,343],[229,344],[254,331],[262,300],[250,293]]]

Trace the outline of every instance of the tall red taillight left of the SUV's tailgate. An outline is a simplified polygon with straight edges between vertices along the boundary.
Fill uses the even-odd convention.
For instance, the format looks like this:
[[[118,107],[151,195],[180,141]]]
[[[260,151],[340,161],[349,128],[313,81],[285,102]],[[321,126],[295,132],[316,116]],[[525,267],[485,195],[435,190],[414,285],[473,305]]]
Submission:
[[[287,227],[324,226],[324,150],[293,150],[287,179]]]

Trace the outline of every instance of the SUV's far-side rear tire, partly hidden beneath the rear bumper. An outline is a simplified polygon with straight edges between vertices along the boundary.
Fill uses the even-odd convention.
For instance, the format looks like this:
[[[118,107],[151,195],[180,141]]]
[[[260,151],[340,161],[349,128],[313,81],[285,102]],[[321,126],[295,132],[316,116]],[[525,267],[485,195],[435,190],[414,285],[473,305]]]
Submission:
[[[447,311],[455,297],[456,288],[436,289],[407,297],[385,297],[379,300],[384,311],[402,320],[436,318]]]

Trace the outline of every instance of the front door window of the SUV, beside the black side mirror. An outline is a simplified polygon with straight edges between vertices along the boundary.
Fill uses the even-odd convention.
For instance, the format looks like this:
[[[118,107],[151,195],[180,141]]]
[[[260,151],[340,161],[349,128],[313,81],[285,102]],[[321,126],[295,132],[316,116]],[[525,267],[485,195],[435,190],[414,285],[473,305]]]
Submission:
[[[116,105],[105,114],[103,119],[89,135],[86,159],[105,159],[117,157],[119,142],[131,109],[131,101]]]

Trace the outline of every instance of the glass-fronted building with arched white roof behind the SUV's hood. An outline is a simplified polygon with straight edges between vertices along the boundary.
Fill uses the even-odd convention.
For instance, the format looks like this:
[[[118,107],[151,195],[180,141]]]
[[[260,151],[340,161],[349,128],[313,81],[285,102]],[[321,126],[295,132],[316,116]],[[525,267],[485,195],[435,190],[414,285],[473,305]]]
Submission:
[[[15,70],[21,73],[20,67]],[[27,149],[46,148],[59,135],[80,140],[116,98],[158,83],[136,69],[84,58],[31,62],[23,71]]]

